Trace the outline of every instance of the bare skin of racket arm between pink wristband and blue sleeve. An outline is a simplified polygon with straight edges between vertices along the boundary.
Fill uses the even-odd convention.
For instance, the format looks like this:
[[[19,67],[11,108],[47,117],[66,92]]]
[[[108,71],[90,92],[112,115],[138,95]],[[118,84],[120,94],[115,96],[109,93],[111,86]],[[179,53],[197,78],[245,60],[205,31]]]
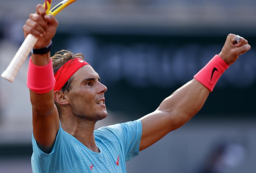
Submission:
[[[59,115],[53,101],[53,90],[37,94],[30,90],[32,105],[33,134],[38,147],[50,153],[60,127]]]

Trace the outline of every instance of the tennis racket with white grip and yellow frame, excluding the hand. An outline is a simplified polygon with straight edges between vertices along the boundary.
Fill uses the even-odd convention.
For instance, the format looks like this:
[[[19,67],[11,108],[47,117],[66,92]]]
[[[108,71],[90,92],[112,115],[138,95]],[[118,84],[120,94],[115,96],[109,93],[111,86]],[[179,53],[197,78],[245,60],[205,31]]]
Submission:
[[[46,10],[46,14],[55,16],[61,10],[63,10],[65,7],[67,7],[69,4],[71,4],[75,1],[76,0],[63,0],[50,10],[52,0],[45,0],[44,7]],[[22,45],[20,46],[18,52],[13,57],[11,63],[6,68],[6,70],[2,73],[1,76],[3,78],[7,79],[10,82],[14,81],[14,78],[17,75],[18,71],[20,70],[20,67],[22,66],[24,61],[27,59],[28,54],[30,53],[32,48],[35,46],[37,40],[38,40],[38,37],[35,37],[32,34],[28,34],[28,36],[26,37],[26,39],[23,41]]]

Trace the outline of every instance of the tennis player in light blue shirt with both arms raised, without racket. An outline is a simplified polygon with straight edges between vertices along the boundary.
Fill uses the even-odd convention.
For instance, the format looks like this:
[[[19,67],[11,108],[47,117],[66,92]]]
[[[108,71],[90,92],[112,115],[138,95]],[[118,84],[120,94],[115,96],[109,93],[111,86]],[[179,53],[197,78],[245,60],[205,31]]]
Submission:
[[[107,117],[107,87],[82,54],[62,51],[50,57],[57,25],[39,4],[23,26],[25,37],[29,33],[39,37],[27,81],[33,112],[34,173],[126,172],[126,161],[188,122],[221,74],[251,48],[244,38],[229,34],[220,54],[165,98],[156,111],[94,130],[95,123]]]

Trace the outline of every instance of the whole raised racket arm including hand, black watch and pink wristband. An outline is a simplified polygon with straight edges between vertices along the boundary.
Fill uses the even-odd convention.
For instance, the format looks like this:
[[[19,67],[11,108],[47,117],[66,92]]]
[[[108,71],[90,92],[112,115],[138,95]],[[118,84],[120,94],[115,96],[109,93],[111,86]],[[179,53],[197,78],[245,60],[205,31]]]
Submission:
[[[55,79],[50,52],[49,48],[46,49],[51,46],[58,22],[45,14],[43,5],[38,4],[36,13],[30,14],[23,26],[23,32],[25,38],[28,34],[39,37],[29,60],[27,85],[33,113],[33,134],[40,149],[47,153],[52,149],[60,123],[53,100]]]

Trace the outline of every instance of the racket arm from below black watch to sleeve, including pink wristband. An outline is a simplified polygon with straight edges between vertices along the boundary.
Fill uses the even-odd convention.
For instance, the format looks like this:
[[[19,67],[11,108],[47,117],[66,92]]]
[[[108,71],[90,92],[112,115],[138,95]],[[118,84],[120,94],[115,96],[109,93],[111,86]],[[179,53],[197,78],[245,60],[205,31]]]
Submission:
[[[59,129],[59,116],[53,99],[54,81],[50,52],[32,54],[28,69],[28,87],[33,114],[33,134],[40,149],[48,153]]]

